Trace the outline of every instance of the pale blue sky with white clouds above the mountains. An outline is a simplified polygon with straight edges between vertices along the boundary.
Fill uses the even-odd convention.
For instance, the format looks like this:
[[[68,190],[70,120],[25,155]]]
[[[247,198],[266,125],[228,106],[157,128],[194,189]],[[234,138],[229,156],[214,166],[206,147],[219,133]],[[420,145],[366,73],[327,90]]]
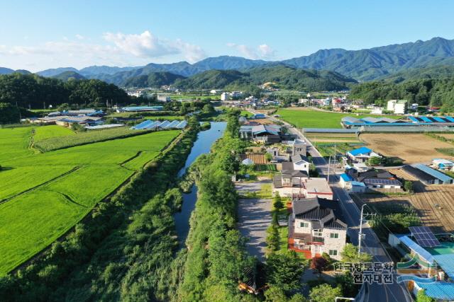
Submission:
[[[289,59],[454,38],[454,1],[1,1],[0,66]]]

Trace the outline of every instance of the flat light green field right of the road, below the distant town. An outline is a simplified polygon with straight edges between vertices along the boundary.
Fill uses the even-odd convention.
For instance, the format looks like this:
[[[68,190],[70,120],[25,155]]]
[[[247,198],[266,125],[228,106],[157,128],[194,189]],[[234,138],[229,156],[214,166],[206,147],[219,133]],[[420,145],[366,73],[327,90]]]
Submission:
[[[299,128],[342,128],[343,117],[391,117],[392,115],[356,115],[355,113],[323,112],[310,108],[279,109],[276,112],[282,120]]]

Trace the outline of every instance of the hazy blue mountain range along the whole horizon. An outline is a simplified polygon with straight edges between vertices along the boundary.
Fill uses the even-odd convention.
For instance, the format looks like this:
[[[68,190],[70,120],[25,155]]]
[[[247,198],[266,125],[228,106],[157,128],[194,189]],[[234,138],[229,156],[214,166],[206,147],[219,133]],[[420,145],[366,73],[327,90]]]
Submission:
[[[434,37],[427,41],[418,40],[365,50],[343,50],[340,48],[319,50],[309,56],[274,62],[221,56],[209,57],[194,64],[177,62],[172,64],[150,63],[145,66],[131,67],[89,66],[80,70],[65,67],[39,71],[37,74],[40,76],[57,76],[65,71],[73,71],[87,79],[101,79],[120,86],[130,86],[131,83],[145,83],[145,78],[148,79],[151,74],[153,74],[152,77],[173,79],[175,76],[189,77],[210,70],[247,72],[248,69],[260,66],[289,66],[295,69],[327,70],[358,81],[371,81],[394,76],[394,74],[411,69],[454,66],[454,40]],[[0,74],[12,72],[14,72],[12,69],[0,68]],[[155,74],[163,72],[174,76]]]

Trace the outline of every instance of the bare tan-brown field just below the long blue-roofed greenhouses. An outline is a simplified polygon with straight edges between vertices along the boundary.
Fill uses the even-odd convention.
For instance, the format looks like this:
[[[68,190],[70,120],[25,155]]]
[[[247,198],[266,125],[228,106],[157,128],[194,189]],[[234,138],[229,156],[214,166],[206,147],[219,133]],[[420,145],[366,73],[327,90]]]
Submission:
[[[360,140],[383,154],[402,158],[406,163],[429,163],[433,158],[453,158],[436,151],[436,148],[453,148],[452,144],[438,141],[424,134],[361,134]]]

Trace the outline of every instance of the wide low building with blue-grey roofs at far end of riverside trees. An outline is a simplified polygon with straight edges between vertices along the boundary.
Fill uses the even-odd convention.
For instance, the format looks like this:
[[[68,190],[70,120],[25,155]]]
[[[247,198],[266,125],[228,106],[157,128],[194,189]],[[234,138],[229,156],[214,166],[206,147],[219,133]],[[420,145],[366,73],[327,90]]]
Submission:
[[[240,127],[240,138],[264,144],[281,141],[281,127],[276,124],[244,124]]]

